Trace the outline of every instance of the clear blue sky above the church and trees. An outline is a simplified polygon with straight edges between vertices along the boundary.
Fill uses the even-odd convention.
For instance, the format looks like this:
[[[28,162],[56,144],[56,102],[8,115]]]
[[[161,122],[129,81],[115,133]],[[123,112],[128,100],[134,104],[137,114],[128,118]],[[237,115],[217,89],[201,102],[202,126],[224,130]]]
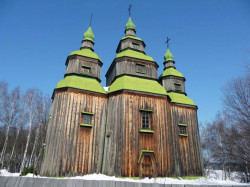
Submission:
[[[160,65],[166,37],[176,68],[186,77],[186,92],[198,105],[199,121],[222,109],[222,87],[244,73],[250,61],[250,1],[243,0],[1,0],[0,81],[10,89],[39,88],[52,94],[65,73],[67,55],[78,50],[94,14],[95,52],[105,73],[124,36],[128,5],[136,36]]]

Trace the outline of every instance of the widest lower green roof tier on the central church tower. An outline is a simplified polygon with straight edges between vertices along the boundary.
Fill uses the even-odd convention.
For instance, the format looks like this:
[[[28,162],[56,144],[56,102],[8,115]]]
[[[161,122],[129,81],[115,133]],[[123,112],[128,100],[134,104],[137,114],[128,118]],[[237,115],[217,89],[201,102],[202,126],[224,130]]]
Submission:
[[[109,87],[109,93],[119,90],[133,90],[167,95],[165,88],[162,87],[157,81],[127,75],[117,78]]]

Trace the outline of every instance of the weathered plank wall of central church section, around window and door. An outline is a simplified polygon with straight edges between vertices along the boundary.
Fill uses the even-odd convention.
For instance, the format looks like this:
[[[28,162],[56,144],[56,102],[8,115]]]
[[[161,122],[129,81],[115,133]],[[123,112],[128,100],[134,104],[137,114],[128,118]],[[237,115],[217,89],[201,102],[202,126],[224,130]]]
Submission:
[[[153,150],[159,163],[158,176],[172,175],[174,150],[167,107],[166,97],[128,92],[109,97],[106,133],[110,137],[105,136],[104,174],[139,176],[137,161],[141,150]],[[142,129],[139,109],[153,110],[151,129],[154,134],[139,132]]]

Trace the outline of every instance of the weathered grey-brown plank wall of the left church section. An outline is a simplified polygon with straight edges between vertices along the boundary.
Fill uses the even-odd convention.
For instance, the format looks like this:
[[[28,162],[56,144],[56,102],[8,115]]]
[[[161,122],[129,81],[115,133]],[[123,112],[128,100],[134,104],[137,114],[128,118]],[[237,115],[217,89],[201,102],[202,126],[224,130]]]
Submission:
[[[106,95],[72,89],[55,91],[41,174],[73,176],[101,171]],[[80,127],[81,111],[94,113],[92,128]]]

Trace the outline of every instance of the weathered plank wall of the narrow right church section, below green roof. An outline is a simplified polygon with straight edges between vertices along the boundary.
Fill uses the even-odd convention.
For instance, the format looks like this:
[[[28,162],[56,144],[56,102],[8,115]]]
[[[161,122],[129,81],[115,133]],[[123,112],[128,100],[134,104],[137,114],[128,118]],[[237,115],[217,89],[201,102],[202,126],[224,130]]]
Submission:
[[[201,156],[197,109],[171,105],[171,134],[175,149],[173,154],[176,176],[202,176],[203,161]],[[179,136],[178,124],[187,124],[188,137]]]

